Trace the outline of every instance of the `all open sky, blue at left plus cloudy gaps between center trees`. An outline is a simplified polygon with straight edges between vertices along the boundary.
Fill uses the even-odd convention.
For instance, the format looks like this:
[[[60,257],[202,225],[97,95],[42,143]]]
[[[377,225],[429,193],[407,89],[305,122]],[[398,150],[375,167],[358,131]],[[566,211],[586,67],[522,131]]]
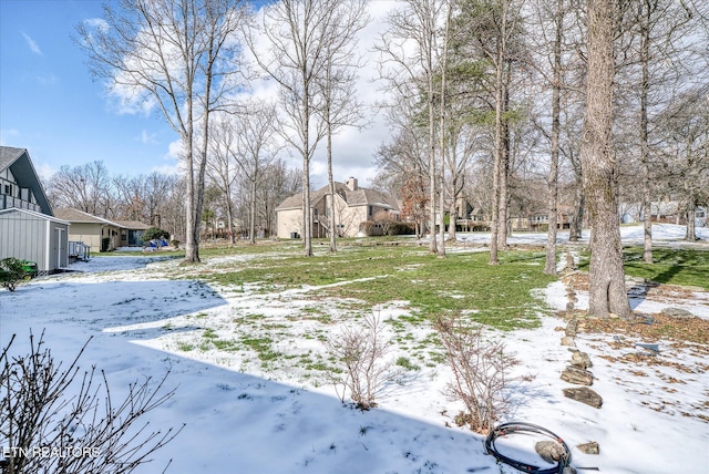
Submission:
[[[370,61],[382,12],[391,6],[370,3],[373,21],[360,38]],[[76,24],[101,17],[99,0],[0,0],[0,144],[27,148],[44,179],[63,165],[93,161],[103,161],[112,175],[175,173],[178,163],[171,145],[177,134],[157,110],[151,115],[119,113],[72,39]],[[360,78],[360,99],[369,104],[381,97],[374,73],[368,64]],[[360,185],[370,185],[377,173],[373,154],[389,135],[381,120],[379,115],[367,130],[345,128],[335,137],[336,181],[354,176]],[[281,157],[300,168],[301,159],[292,153]],[[316,188],[327,184],[325,163],[322,143],[311,163]]]

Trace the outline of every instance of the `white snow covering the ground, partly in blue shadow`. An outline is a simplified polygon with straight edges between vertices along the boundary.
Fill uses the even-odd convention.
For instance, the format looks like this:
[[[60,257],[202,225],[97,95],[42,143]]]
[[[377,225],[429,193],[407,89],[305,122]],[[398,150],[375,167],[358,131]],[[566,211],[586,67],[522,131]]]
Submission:
[[[678,226],[656,226],[654,231],[667,244],[684,236]],[[624,227],[623,233],[626,241],[641,239],[639,227]],[[699,236],[703,243],[698,245],[707,246],[709,229],[699,229]],[[510,241],[545,239],[527,234]],[[247,265],[243,257],[219,258],[199,271]],[[82,272],[37,279],[14,293],[0,291],[0,344],[17,333],[14,351],[25,352],[29,330],[44,329],[53,353],[69,360],[93,337],[82,364],[105,370],[115,396],[130,382],[161,378],[169,369],[167,384],[177,388],[176,394],[150,413],[151,423],[186,426],[153,463],[138,470],[142,473],[161,472],[171,458],[172,473],[516,472],[484,454],[482,436],[450,427],[460,406],[442,394],[451,374],[425,344],[430,328],[402,324],[407,340],[418,344],[398,344],[392,357],[407,356],[418,367],[387,388],[379,408],[361,412],[342,406],[321,371],[306,369],[326,361],[318,337],[351,323],[348,301],[330,305],[326,319],[309,317],[314,308],[322,313],[328,306],[317,298],[317,287],[273,292],[210,287],[191,279],[176,260],[154,256],[96,257],[74,269]],[[576,307],[583,308],[584,295],[578,296]],[[566,307],[561,282],[541,297],[552,307]],[[709,319],[707,292],[697,291],[688,301],[645,298],[633,305],[643,312],[680,307]],[[408,307],[392,301],[376,311],[391,321],[408,315]],[[564,326],[561,319],[544,317],[540,329],[503,334],[522,361],[517,374],[535,375],[514,385],[510,420],[540,424],[562,436],[572,446],[576,467],[709,473],[709,348],[654,341],[660,344],[654,360],[662,365],[644,363],[647,358],[619,363],[612,357],[635,350],[614,344],[621,336],[579,334],[578,349],[594,362],[592,388],[604,399],[597,410],[562,394],[572,387],[559,379],[571,360],[559,344]],[[225,350],[205,346],[207,331],[232,344]],[[280,356],[259,359],[253,346],[237,343],[246,338],[269,341]],[[599,455],[574,447],[590,441],[599,443]],[[527,452],[533,446],[532,440],[518,444]]]

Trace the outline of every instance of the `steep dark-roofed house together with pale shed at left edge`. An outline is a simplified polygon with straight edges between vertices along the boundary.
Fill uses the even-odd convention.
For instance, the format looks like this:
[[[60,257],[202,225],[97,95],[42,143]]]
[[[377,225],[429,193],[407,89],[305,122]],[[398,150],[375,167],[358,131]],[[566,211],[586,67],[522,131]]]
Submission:
[[[34,261],[40,274],[66,267],[69,226],[54,216],[28,151],[0,146],[0,259]]]

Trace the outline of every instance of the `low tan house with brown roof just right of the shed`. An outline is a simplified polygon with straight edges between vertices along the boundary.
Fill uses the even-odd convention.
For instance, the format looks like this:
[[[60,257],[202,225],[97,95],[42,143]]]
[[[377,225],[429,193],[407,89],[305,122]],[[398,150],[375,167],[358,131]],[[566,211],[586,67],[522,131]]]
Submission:
[[[141,236],[150,228],[137,220],[110,220],[71,207],[56,209],[55,215],[71,223],[70,240],[83,241],[93,253],[140,246]]]

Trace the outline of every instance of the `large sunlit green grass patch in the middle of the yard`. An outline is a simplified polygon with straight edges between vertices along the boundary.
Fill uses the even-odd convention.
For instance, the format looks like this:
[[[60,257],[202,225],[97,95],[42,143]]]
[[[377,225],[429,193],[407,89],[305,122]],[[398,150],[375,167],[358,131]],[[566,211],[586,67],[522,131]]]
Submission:
[[[364,245],[356,240],[340,243],[335,255],[320,253],[316,246],[317,255],[308,258],[298,255],[295,250],[299,247],[292,244],[285,247],[285,253],[274,251],[281,245],[244,246],[230,251],[264,247],[269,247],[270,254],[263,251],[248,265],[236,265],[237,271],[201,278],[227,287],[244,282],[260,285],[261,291],[326,286],[314,290],[311,296],[318,300],[323,297],[354,300],[367,308],[392,300],[409,301],[412,312],[401,323],[428,323],[433,315],[466,311],[471,319],[503,330],[537,326],[536,313],[544,308],[542,301],[531,296],[531,290],[555,279],[543,274],[544,254],[520,250],[500,253],[499,266],[487,265],[487,253],[455,253],[435,258],[424,247]],[[345,285],[327,287],[336,282]],[[307,312],[314,316],[318,310]]]

